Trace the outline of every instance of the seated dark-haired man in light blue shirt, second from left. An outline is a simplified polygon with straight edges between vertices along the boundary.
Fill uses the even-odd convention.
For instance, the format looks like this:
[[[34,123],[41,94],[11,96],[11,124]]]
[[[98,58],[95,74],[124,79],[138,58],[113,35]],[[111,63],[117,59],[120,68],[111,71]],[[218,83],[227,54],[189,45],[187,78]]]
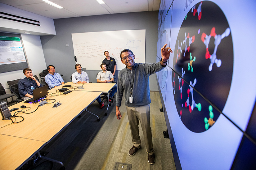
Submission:
[[[49,74],[44,77],[44,80],[50,89],[64,84],[64,80],[62,79],[61,75],[59,73],[55,73],[54,66],[47,66],[47,70],[49,71]]]

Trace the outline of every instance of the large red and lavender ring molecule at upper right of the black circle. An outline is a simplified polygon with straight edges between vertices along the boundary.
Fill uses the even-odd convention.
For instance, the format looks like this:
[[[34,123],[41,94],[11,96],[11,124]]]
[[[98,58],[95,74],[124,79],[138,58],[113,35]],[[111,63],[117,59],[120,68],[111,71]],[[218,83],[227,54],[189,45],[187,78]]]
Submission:
[[[216,64],[217,67],[220,67],[221,66],[221,60],[220,59],[217,59],[217,56],[216,56],[216,52],[217,52],[217,48],[218,48],[218,45],[220,44],[221,40],[228,36],[230,34],[230,28],[227,28],[225,32],[222,33],[222,35],[217,35],[215,33],[215,27],[212,28],[211,30],[211,34],[210,35],[206,35],[204,32],[201,36],[201,40],[204,42],[204,44],[206,45],[206,53],[205,53],[205,58],[208,59],[210,58],[211,60],[211,64],[209,66],[209,71],[211,71],[213,69],[213,63]],[[210,55],[209,51],[208,51],[208,47],[209,47],[209,42],[210,42],[210,38],[211,37],[214,37],[214,52],[212,55]]]

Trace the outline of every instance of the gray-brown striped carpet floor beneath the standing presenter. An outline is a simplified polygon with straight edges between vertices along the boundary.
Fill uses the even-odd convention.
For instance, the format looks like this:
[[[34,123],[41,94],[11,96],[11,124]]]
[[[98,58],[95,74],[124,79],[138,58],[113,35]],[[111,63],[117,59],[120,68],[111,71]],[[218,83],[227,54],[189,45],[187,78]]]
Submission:
[[[166,131],[166,123],[164,114],[159,112],[159,108],[162,107],[159,92],[151,91],[150,95],[155,164],[150,165],[147,161],[140,125],[141,149],[133,156],[128,155],[132,141],[124,99],[120,107],[121,120],[115,116],[115,98],[107,116],[104,115],[107,103],[105,102],[104,108],[100,109],[95,101],[88,107],[88,111],[98,115],[101,121],[97,121],[97,117],[89,113],[81,113],[80,118],[71,122],[42,151],[47,152],[47,157],[63,162],[66,170],[113,170],[117,162],[123,163],[124,168],[126,164],[132,164],[132,170],[175,170],[170,141],[163,135],[163,131]],[[45,170],[47,166],[42,164],[36,169]],[[54,163],[52,169],[60,169],[60,167],[60,164]],[[118,169],[124,168],[119,166]]]

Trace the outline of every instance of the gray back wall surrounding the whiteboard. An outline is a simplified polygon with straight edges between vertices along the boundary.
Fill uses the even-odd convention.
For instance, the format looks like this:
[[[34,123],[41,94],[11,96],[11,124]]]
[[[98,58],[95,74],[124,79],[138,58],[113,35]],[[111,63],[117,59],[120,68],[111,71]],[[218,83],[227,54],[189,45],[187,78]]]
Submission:
[[[54,24],[56,36],[40,38],[46,65],[54,65],[65,82],[70,81],[71,74],[76,71],[72,33],[146,29],[146,62],[156,62],[158,11],[54,19]],[[85,71],[90,81],[96,82],[96,74],[101,68]],[[158,90],[155,75],[150,76],[150,90]]]

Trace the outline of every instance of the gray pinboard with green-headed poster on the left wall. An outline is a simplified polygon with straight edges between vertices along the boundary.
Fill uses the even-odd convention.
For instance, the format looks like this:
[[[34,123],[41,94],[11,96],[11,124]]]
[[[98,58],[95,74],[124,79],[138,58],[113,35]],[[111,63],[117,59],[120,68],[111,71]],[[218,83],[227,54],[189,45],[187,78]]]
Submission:
[[[20,34],[0,32],[0,73],[28,67]]]

